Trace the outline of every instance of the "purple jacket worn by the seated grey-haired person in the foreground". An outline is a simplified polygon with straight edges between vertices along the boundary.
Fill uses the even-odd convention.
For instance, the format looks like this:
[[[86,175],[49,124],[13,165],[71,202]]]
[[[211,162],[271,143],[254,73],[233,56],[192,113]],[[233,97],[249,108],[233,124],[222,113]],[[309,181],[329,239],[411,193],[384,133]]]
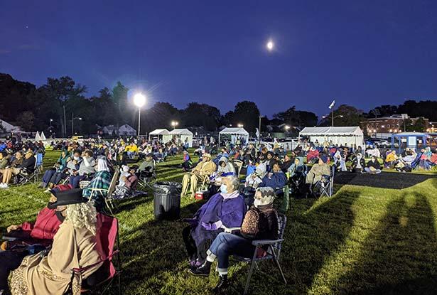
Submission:
[[[222,228],[205,230],[202,222],[212,224],[220,220],[225,227],[241,227],[246,210],[242,195],[227,199],[220,193],[213,195],[194,215],[198,221],[191,232],[195,244],[199,247],[205,240],[214,240],[223,231]]]

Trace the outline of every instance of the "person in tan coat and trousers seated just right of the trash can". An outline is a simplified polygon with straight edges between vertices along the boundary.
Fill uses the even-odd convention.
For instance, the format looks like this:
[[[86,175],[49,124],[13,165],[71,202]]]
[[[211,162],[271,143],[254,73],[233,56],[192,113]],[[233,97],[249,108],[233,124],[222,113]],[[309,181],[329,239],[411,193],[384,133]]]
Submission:
[[[188,193],[188,186],[190,186],[190,196],[193,197],[198,187],[198,182],[209,179],[216,168],[215,163],[211,161],[211,155],[207,153],[203,154],[202,161],[200,161],[191,172],[184,174],[180,196],[183,197],[186,195]]]

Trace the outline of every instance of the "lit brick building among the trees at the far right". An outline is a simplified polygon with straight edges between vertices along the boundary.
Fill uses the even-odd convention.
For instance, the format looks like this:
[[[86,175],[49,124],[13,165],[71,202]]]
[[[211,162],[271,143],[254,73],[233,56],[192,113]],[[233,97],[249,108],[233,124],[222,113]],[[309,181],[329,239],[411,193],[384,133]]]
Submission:
[[[408,117],[408,114],[394,114],[390,117],[369,118],[367,121],[361,122],[361,124],[362,129],[368,136],[385,138],[392,136],[394,133],[403,132],[405,122],[416,124],[418,119],[420,119],[420,117],[411,118]],[[425,121],[425,129],[429,129],[431,127],[429,120],[426,118],[423,118],[423,120]]]

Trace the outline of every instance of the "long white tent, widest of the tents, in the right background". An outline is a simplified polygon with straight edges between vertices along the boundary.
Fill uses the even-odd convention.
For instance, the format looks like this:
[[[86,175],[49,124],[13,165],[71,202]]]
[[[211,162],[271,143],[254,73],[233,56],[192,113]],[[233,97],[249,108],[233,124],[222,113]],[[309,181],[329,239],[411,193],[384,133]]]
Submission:
[[[299,136],[309,137],[310,141],[318,141],[320,145],[329,142],[347,146],[364,144],[364,134],[360,127],[305,127]]]

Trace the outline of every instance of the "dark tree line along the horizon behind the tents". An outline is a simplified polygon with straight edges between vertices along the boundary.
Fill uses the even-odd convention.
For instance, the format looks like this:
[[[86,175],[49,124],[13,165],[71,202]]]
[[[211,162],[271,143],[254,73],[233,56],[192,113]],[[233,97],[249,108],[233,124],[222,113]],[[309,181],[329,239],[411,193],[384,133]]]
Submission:
[[[136,128],[138,112],[129,102],[128,92],[122,82],[117,82],[112,89],[104,87],[98,95],[87,97],[87,87],[71,77],[49,77],[44,85],[36,87],[29,82],[15,80],[11,75],[0,74],[0,119],[26,131],[52,131],[60,136],[72,134],[72,120],[78,134],[95,134],[110,124],[129,124]],[[335,109],[334,117],[336,126],[360,126],[360,122],[367,117],[402,113],[437,121],[437,102],[407,100],[399,106],[382,105],[367,113],[342,104]],[[239,124],[254,132],[261,122],[262,130],[269,127],[272,131],[281,132],[284,126],[288,126],[293,132],[308,126],[329,126],[330,115],[318,118],[313,112],[290,106],[271,119],[262,116],[260,120],[261,112],[257,104],[247,100],[237,102],[234,110],[225,114],[217,107],[201,102],[189,102],[184,109],[168,102],[156,102],[141,112],[141,130],[171,129],[171,122],[176,121],[178,127],[201,127],[205,132],[216,131],[222,126],[237,127]],[[82,119],[75,119],[79,117]]]

